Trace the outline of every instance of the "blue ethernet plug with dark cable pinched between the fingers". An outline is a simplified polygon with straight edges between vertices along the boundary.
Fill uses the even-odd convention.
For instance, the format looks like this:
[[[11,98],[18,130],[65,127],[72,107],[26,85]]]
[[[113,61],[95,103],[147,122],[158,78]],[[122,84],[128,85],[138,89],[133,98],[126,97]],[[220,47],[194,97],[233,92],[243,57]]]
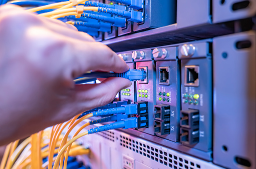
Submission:
[[[131,81],[144,80],[146,78],[146,71],[142,69],[130,69],[123,73],[114,72],[100,72],[100,71],[87,71],[81,77],[95,77],[95,78],[108,78],[108,77],[123,77]]]

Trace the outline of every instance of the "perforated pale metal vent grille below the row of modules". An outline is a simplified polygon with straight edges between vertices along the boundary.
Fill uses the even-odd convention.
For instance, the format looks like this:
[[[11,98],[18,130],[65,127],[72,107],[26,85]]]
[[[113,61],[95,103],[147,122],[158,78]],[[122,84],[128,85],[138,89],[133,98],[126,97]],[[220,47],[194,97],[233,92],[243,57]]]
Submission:
[[[198,169],[201,168],[200,164],[193,161],[189,161],[177,155],[167,153],[157,147],[147,145],[145,143],[139,142],[137,140],[130,139],[124,135],[120,134],[120,146],[126,147],[134,152],[148,157],[151,160],[155,160],[160,164],[169,166],[174,169]]]

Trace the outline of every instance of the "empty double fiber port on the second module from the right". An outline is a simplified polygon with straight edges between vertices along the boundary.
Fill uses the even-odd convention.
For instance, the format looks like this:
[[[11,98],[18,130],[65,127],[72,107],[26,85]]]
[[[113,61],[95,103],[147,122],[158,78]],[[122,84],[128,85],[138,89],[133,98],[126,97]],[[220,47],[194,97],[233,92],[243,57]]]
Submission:
[[[164,135],[170,133],[170,105],[158,104],[154,106],[155,133]]]

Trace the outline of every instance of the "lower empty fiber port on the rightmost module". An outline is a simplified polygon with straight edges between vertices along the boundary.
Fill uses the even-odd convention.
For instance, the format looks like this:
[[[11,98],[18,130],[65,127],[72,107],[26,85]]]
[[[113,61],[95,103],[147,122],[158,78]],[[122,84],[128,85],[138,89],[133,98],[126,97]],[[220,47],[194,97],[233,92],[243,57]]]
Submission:
[[[198,129],[180,128],[180,141],[184,145],[193,145],[199,142]]]

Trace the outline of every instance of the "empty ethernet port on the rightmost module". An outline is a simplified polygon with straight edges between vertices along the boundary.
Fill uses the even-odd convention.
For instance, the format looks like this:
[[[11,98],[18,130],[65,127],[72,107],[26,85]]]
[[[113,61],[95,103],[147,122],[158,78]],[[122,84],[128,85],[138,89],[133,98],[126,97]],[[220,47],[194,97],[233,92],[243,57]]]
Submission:
[[[186,65],[185,66],[185,86],[199,86],[199,66]]]

